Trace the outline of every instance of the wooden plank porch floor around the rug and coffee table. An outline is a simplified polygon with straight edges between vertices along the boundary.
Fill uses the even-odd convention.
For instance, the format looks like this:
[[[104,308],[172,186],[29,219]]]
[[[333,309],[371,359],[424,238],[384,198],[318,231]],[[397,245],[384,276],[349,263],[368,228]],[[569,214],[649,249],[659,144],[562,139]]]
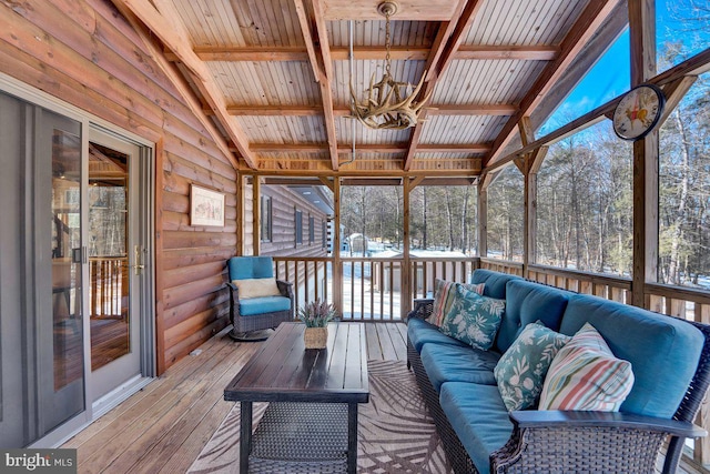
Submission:
[[[406,360],[403,323],[364,323],[369,360]],[[184,473],[233,407],[222,393],[260,343],[226,331],[171,366],[62,447],[78,450],[79,473]],[[708,473],[682,463],[680,473]]]

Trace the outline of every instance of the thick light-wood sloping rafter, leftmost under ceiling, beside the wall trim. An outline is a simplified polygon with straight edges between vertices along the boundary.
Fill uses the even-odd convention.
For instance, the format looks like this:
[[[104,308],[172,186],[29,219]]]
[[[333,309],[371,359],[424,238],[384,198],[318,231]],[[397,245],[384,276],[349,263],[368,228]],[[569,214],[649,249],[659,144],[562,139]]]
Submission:
[[[226,112],[224,95],[215,83],[206,64],[192,51],[192,44],[184,26],[166,0],[113,0],[119,8],[128,8],[138,17],[153,34],[174,52],[183,65],[194,78],[194,83],[204,100],[214,111],[217,120],[250,168],[256,168],[256,162],[248,149],[248,140],[240,124]]]

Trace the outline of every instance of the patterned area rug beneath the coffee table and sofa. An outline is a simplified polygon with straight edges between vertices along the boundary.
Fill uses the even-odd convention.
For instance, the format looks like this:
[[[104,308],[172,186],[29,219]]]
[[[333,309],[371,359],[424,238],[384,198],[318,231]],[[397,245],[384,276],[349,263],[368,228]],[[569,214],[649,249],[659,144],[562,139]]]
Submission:
[[[403,361],[368,361],[369,403],[359,405],[357,472],[450,473],[414,374]],[[254,403],[254,426],[266,407]],[[189,472],[237,473],[240,410],[231,410]]]

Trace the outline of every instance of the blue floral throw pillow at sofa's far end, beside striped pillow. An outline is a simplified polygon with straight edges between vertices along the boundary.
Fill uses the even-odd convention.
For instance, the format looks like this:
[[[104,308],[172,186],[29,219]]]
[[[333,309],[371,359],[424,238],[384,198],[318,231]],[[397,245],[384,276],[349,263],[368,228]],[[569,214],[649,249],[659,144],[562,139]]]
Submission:
[[[481,296],[457,285],[452,307],[439,331],[474,347],[487,351],[496,339],[506,310],[505,300]]]

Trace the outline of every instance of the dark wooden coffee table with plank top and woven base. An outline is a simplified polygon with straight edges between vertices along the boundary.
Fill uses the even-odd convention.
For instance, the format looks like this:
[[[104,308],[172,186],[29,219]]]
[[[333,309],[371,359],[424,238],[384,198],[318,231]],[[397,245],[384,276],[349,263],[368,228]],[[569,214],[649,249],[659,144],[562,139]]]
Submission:
[[[369,401],[365,326],[358,323],[331,323],[327,349],[320,351],[305,350],[302,323],[282,323],[224,390],[224,400],[241,402],[241,473],[248,472],[253,447],[253,402],[290,402],[280,405],[280,410],[287,406],[310,406],[314,410],[313,406],[316,406],[320,413],[327,411],[317,410],[315,404],[347,404],[347,472],[355,473],[357,470],[357,404]],[[270,416],[270,423],[278,423],[278,416]],[[298,416],[290,422],[293,420],[298,420]],[[332,423],[323,425],[327,430],[327,425],[344,422],[342,417],[334,416]],[[284,448],[304,451],[307,446]]]

